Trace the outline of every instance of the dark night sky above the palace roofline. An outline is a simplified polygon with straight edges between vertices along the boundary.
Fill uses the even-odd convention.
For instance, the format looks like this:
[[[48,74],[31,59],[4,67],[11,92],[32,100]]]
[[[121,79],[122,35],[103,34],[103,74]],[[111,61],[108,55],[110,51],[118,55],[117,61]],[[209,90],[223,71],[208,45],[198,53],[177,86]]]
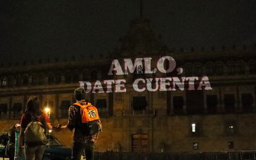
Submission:
[[[231,48],[256,43],[255,8],[255,0],[144,0],[143,17],[169,49]],[[139,10],[139,0],[2,0],[0,62],[107,55]]]

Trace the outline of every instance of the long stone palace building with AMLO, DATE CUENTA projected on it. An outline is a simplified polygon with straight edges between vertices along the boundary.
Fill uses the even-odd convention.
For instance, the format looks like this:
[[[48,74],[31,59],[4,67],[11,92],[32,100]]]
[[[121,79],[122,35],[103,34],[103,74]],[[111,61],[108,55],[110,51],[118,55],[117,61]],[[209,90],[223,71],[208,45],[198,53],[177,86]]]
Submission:
[[[0,81],[1,132],[30,96],[53,124],[66,124],[74,89],[90,82],[86,97],[103,122],[96,151],[256,150],[256,44],[169,50],[138,18],[108,57],[3,65]],[[52,134],[72,146],[72,132]]]

